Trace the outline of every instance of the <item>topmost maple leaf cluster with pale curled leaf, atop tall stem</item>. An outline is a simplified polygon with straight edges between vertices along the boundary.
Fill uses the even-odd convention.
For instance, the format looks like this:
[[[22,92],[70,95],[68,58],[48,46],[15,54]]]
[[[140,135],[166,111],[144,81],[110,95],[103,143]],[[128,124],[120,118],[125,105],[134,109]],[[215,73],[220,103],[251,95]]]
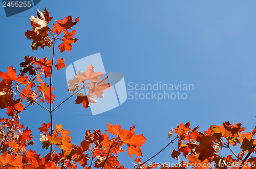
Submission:
[[[44,10],[44,12],[41,12],[37,9],[36,12],[37,17],[34,17],[33,15],[30,17],[32,31],[27,30],[27,32],[25,33],[25,36],[28,39],[33,40],[31,44],[32,50],[37,50],[39,46],[42,49],[44,49],[45,46],[48,46],[50,49],[50,47],[54,43],[53,41],[59,39],[62,41],[62,43],[58,46],[60,52],[70,52],[72,50],[72,43],[75,43],[77,39],[73,38],[76,30],[73,30],[71,32],[69,32],[68,30],[72,29],[72,27],[76,25],[76,23],[79,21],[79,18],[75,18],[74,22],[72,16],[65,17],[64,22],[63,19],[56,20],[56,23],[53,24],[52,29],[50,29],[49,23],[53,18],[50,17],[50,13],[46,9]],[[60,33],[63,31],[63,37],[58,38],[58,35],[60,35]],[[49,37],[49,34],[52,37]]]

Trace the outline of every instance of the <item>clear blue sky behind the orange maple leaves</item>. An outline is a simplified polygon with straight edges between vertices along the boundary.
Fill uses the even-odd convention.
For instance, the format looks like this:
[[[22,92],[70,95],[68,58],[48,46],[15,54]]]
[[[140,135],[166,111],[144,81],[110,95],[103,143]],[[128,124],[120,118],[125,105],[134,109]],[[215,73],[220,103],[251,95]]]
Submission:
[[[209,125],[229,121],[252,130],[256,110],[256,2],[226,1],[41,1],[34,8],[6,17],[0,9],[2,35],[1,71],[13,65],[19,69],[24,56],[51,58],[52,49],[32,51],[24,33],[31,30],[31,15],[47,8],[50,16],[79,17],[74,27],[79,40],[71,52],[56,52],[66,65],[100,53],[106,71],[122,73],[127,84],[194,84],[186,100],[126,100],[121,106],[93,116],[71,98],[53,114],[53,123],[63,124],[74,143],[84,139],[87,129],[106,130],[106,122],[129,129],[147,138],[142,160],[161,150],[169,140],[171,127],[190,121],[191,127],[205,131]],[[53,22],[54,23],[54,22]],[[65,69],[53,72],[53,107],[69,96]],[[145,91],[140,91],[144,92]],[[150,91],[151,92],[151,91]],[[49,105],[47,105],[49,106]],[[1,110],[3,114],[5,110]],[[50,115],[39,106],[22,114],[21,122],[33,131],[34,149],[41,154],[37,128],[50,122]],[[176,148],[176,146],[174,145]],[[172,147],[154,161],[176,162]],[[135,157],[133,156],[133,159]],[[131,168],[128,155],[121,163]]]

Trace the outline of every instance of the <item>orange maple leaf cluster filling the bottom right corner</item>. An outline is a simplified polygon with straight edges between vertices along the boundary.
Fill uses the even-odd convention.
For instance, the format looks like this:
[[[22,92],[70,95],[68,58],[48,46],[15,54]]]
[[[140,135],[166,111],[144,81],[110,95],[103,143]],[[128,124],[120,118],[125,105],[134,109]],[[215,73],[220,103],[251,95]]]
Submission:
[[[199,126],[190,129],[190,123],[180,124],[175,129],[176,136],[173,140],[178,140],[177,150],[172,151],[172,158],[180,161],[182,154],[188,161],[180,161],[180,164],[175,167],[167,167],[163,165],[161,168],[186,168],[194,166],[193,168],[255,168],[256,157],[246,157],[243,159],[244,154],[248,152],[256,152],[256,139],[253,136],[256,133],[256,127],[252,132],[244,133],[246,128],[241,127],[241,123],[232,125],[225,122],[222,126],[211,125],[207,131],[198,131]],[[173,135],[174,129],[169,132],[169,137]],[[237,147],[240,144],[241,152],[235,154],[231,146]],[[223,148],[228,148],[232,155],[223,157],[221,152]],[[250,164],[252,164],[250,166]],[[245,165],[245,166],[243,166]],[[254,165],[254,167],[253,167]],[[237,167],[239,166],[239,167]],[[248,167],[249,166],[249,167]]]

